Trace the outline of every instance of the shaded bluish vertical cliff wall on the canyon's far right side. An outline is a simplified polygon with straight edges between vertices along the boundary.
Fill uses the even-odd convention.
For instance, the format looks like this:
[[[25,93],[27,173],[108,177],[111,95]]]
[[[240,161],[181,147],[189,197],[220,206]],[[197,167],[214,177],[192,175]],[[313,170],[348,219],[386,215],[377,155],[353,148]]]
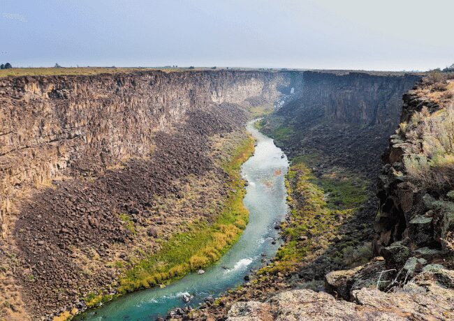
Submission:
[[[402,93],[411,89],[417,75],[373,75],[306,71],[302,73],[299,99],[278,114],[293,115],[300,121],[323,117],[347,124],[389,124],[400,117]],[[304,111],[311,110],[311,114]],[[318,119],[320,120],[320,119]]]

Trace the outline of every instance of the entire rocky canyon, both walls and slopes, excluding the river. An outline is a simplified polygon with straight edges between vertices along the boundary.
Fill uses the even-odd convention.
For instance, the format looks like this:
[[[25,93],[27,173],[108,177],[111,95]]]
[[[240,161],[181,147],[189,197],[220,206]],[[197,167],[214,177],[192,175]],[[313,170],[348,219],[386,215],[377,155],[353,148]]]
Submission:
[[[254,117],[291,160],[290,210],[276,225],[284,244],[242,287],[171,317],[424,319],[430,311],[413,312],[437,299],[445,306],[434,313],[446,318],[451,199],[396,174],[414,153],[404,133],[391,136],[388,165],[380,159],[400,123],[448,104],[421,95],[420,79],[315,70],[0,77],[0,320],[71,318],[219,260],[247,224],[239,171],[253,153],[244,126]],[[212,234],[217,246],[200,244]],[[176,263],[175,249],[186,255]],[[396,314],[393,298],[371,287],[385,269],[402,276],[410,259],[418,271],[432,265],[418,286],[432,282],[435,299],[413,297]]]

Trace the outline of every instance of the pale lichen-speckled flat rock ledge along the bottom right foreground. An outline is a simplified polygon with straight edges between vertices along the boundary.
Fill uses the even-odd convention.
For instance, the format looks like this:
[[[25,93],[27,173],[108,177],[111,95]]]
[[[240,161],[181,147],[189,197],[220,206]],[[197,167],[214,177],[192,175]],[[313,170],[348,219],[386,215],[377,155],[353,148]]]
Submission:
[[[438,285],[431,285],[427,293],[385,293],[363,288],[354,295],[358,303],[336,300],[324,292],[291,290],[265,303],[237,302],[227,320],[449,320],[454,316],[453,291]]]

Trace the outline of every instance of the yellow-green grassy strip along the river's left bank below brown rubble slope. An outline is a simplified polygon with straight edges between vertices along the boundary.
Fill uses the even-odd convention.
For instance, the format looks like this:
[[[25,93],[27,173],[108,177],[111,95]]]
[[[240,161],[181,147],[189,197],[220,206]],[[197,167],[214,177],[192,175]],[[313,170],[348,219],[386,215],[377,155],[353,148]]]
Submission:
[[[230,177],[227,183],[230,192],[214,223],[198,221],[192,223],[187,232],[173,235],[158,253],[125,271],[119,280],[116,295],[168,284],[191,271],[213,264],[235,244],[246,227],[249,216],[242,202],[246,191],[240,167],[253,152],[254,139],[247,137],[235,149],[233,156],[222,164]],[[91,307],[110,299],[112,296],[100,292],[90,294],[85,301]]]

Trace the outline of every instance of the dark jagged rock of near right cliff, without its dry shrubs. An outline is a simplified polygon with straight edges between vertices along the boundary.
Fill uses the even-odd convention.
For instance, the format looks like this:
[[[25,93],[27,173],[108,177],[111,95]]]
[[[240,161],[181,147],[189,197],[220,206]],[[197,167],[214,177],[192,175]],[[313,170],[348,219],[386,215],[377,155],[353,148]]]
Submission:
[[[416,249],[416,253],[430,251],[433,258],[443,254],[437,251],[444,246],[443,240],[448,232],[454,230],[454,203],[453,197],[450,197],[452,193],[448,193],[450,184],[430,184],[423,176],[411,175],[405,163],[410,156],[425,157],[424,137],[427,133],[424,130],[427,129],[421,124],[428,124],[426,128],[433,126],[430,120],[414,118],[416,114],[425,110],[425,117],[429,117],[429,114],[444,112],[453,104],[452,100],[434,99],[437,91],[431,92],[428,88],[427,84],[420,83],[404,94],[401,126],[390,136],[388,148],[383,154],[386,165],[377,179],[377,196],[380,200],[379,215],[375,221],[374,250],[377,254],[383,254],[392,244],[402,242]],[[425,91],[430,94],[423,95]],[[437,135],[441,136],[444,134],[442,130],[449,128],[437,130]],[[441,171],[438,167],[437,170]],[[446,175],[449,175],[447,171]],[[433,179],[435,182],[436,177]]]

